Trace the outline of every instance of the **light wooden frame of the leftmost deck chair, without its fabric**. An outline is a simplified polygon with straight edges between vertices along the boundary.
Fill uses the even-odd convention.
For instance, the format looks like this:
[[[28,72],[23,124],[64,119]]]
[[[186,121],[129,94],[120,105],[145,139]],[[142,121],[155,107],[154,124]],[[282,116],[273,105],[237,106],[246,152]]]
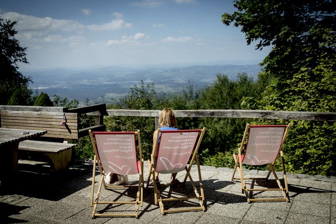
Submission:
[[[134,134],[134,144],[135,144],[135,136],[137,136],[138,141],[138,153],[140,161],[137,162],[140,164],[140,167],[138,167],[138,173],[139,173],[139,181],[137,185],[111,185],[106,184],[104,180],[104,175],[106,174],[106,171],[103,169],[102,161],[99,157],[99,151],[97,149],[97,144],[95,141],[95,134]],[[93,206],[91,218],[94,219],[95,217],[135,217],[138,218],[138,212],[139,212],[139,205],[142,207],[143,203],[143,186],[144,186],[144,180],[143,180],[143,155],[141,151],[141,140],[140,140],[140,131],[137,130],[136,132],[91,132],[89,130],[89,135],[91,138],[91,142],[94,149],[94,158],[93,158],[93,172],[92,172],[92,186],[91,186],[91,201],[90,206]],[[135,147],[135,145],[134,145]],[[136,147],[135,147],[136,150]],[[95,173],[96,173],[96,164],[98,164],[99,173],[100,173],[100,181],[98,184],[98,189],[96,192],[96,198],[93,200],[94,197],[94,181],[95,181]],[[138,165],[138,164],[137,164]],[[118,189],[118,188],[130,188],[130,187],[137,187],[137,194],[136,194],[136,200],[135,201],[100,201],[100,191],[102,186],[105,189]],[[97,205],[98,204],[135,204],[135,212],[134,213],[96,213]]]

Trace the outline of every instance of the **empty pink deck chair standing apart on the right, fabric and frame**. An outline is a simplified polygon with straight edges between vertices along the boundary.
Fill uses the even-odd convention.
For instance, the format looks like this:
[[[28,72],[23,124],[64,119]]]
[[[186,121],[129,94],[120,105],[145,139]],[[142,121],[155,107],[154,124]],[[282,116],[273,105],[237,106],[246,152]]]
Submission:
[[[284,154],[282,151],[282,146],[287,137],[289,125],[250,125],[247,124],[245,128],[245,133],[241,146],[238,150],[238,155],[233,154],[235,159],[235,167],[232,174],[232,179],[240,179],[242,184],[242,193],[245,193],[248,203],[252,201],[286,201],[289,202],[288,197],[288,181],[286,175],[286,169],[284,164]],[[245,153],[243,155],[243,150],[245,146]],[[285,188],[282,186],[278,176],[274,171],[274,165],[278,156],[281,157],[282,170],[285,181]],[[269,171],[266,178],[245,178],[243,174],[242,164],[260,166],[268,165]],[[239,165],[239,166],[238,166]],[[235,178],[236,170],[238,170],[239,178]],[[256,179],[268,180],[270,174],[273,173],[274,178],[279,186],[279,188],[252,188],[254,187],[254,181]],[[252,180],[251,188],[246,186],[245,180]],[[263,198],[252,198],[253,191],[281,191],[283,197],[263,197]]]

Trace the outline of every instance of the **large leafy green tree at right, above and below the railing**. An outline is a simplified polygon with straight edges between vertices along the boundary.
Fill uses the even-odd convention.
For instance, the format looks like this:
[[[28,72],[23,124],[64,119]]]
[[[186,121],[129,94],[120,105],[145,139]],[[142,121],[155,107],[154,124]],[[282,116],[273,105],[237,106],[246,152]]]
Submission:
[[[272,45],[262,63],[263,77],[271,80],[254,105],[261,110],[335,112],[335,3],[236,0],[235,7],[234,13],[223,14],[223,23],[240,26],[248,45]],[[335,175],[335,123],[293,123],[284,145],[287,169]]]

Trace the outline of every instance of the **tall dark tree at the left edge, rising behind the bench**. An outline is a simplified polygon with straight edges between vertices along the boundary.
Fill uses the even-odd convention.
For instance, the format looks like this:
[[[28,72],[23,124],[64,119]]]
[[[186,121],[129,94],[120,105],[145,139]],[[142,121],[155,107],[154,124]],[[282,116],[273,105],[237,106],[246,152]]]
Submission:
[[[28,83],[30,77],[23,76],[18,71],[17,63],[28,63],[26,47],[21,47],[14,38],[17,31],[16,21],[3,20],[0,17],[0,104],[2,105],[30,105],[31,90]]]

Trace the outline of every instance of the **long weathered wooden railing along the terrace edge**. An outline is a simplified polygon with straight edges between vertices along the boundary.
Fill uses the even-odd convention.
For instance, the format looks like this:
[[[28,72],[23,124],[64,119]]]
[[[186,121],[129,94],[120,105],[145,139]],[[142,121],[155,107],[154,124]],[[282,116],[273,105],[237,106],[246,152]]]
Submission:
[[[159,127],[158,120],[161,110],[125,110],[106,109],[106,105],[96,104],[91,106],[69,109],[67,107],[38,107],[38,106],[4,106],[0,110],[22,111],[48,111],[87,114],[95,117],[95,125],[80,130],[81,136],[86,135],[89,129],[105,128],[104,116],[129,116],[129,117],[154,117],[155,126]],[[220,117],[220,118],[260,118],[283,120],[309,120],[335,122],[334,112],[303,112],[303,111],[270,111],[270,110],[175,110],[176,117]]]

